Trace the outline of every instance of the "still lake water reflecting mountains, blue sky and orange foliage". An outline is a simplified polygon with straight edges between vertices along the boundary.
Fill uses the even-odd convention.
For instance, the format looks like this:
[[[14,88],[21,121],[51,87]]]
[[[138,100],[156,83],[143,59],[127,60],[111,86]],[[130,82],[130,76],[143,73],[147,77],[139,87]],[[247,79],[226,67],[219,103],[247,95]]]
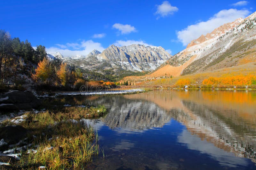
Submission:
[[[256,169],[256,91],[154,90],[65,100],[109,110],[88,120],[101,148],[89,169]]]

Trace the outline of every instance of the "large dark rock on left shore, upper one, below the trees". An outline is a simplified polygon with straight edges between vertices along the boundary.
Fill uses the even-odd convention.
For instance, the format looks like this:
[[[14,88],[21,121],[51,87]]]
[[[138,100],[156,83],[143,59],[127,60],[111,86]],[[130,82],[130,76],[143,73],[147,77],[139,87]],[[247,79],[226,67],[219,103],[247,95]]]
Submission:
[[[36,109],[40,105],[40,99],[28,91],[14,90],[0,98],[0,110],[4,111]]]

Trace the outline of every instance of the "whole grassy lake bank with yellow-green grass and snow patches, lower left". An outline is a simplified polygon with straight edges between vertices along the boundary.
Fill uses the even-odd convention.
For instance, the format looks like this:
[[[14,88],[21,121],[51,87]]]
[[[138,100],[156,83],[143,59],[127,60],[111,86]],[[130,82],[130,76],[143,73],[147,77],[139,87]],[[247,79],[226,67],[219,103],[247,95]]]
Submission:
[[[83,168],[99,152],[97,134],[83,119],[99,118],[105,114],[107,109],[104,106],[64,107],[52,112],[25,113],[25,120],[18,125],[29,133],[23,144],[13,147],[15,154],[20,154],[20,160],[10,162],[11,168]],[[6,125],[17,124],[10,120],[1,124]],[[24,144],[29,144],[27,149],[20,149]]]

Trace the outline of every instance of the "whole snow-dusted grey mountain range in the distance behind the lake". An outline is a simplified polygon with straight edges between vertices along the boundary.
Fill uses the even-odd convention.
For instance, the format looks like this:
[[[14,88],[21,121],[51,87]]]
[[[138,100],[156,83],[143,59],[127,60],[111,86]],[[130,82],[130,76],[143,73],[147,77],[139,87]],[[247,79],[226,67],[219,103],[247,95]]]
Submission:
[[[53,56],[62,56],[54,53]],[[82,67],[100,74],[118,75],[125,71],[147,72],[153,71],[172,57],[161,46],[145,46],[133,44],[130,46],[109,46],[102,53],[93,50],[86,57],[63,57],[70,65]]]

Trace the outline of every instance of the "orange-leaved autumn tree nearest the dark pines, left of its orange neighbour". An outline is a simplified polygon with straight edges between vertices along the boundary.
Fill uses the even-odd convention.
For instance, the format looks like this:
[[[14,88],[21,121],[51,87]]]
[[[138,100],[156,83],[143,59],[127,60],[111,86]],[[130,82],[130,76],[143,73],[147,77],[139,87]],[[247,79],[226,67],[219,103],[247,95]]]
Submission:
[[[42,61],[38,63],[38,67],[35,69],[36,74],[32,77],[36,80],[41,80],[46,84],[50,84],[52,78],[53,69],[50,61],[45,57]]]

